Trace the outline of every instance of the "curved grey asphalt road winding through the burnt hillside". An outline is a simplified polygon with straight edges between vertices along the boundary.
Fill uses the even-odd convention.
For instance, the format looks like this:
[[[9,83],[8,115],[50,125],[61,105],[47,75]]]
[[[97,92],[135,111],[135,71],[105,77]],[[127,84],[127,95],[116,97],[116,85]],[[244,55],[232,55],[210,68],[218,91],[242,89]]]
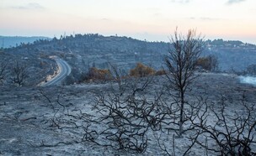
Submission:
[[[67,77],[67,75],[71,73],[71,68],[65,60],[61,60],[58,58],[56,58],[55,60],[61,71],[58,75],[51,79],[51,81],[46,82],[42,86],[60,85],[61,81],[63,81]]]

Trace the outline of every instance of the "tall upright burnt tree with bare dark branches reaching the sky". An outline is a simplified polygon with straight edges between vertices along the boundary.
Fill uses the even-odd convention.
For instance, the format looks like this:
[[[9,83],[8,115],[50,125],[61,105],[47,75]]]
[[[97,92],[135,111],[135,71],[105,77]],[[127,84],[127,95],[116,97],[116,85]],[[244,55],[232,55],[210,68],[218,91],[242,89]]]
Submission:
[[[183,133],[185,92],[195,80],[196,62],[203,51],[203,39],[194,29],[189,29],[186,36],[178,34],[177,29],[171,38],[171,47],[165,57],[169,89],[178,92],[179,136]]]

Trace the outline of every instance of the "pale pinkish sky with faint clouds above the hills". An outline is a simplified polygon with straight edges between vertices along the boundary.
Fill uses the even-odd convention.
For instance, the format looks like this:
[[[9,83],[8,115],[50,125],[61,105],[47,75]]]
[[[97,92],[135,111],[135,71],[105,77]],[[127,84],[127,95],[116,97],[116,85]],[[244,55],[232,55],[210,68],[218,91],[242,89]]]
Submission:
[[[256,44],[256,0],[0,0],[0,35],[129,36],[168,41],[176,28]]]

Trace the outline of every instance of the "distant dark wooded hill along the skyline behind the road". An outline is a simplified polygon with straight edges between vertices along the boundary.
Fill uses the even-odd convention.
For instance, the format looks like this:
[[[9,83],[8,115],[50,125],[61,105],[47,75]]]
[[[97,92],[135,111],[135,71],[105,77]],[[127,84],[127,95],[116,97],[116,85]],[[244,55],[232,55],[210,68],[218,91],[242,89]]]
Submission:
[[[56,55],[66,60],[72,67],[71,82],[80,81],[90,67],[109,68],[109,63],[128,72],[137,62],[163,68],[163,58],[168,55],[169,44],[147,42],[120,36],[99,34],[76,34],[61,36],[61,39],[39,39],[33,44],[20,44],[17,47],[2,49],[0,60],[19,60],[29,66],[30,86],[45,81],[52,75],[56,63],[50,58]],[[256,46],[241,41],[223,41],[222,39],[205,41],[202,56],[216,55],[221,71],[232,72],[245,70],[255,64]],[[10,65],[12,65],[10,61]],[[38,73],[37,75],[33,73]]]

